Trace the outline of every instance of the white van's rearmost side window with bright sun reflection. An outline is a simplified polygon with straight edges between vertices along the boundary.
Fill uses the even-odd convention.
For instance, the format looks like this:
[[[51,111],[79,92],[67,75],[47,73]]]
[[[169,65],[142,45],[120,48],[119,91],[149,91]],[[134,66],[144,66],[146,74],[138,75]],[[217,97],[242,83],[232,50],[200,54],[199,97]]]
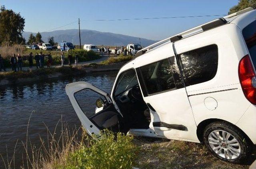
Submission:
[[[218,47],[209,45],[178,55],[185,85],[196,85],[213,79],[218,69]]]

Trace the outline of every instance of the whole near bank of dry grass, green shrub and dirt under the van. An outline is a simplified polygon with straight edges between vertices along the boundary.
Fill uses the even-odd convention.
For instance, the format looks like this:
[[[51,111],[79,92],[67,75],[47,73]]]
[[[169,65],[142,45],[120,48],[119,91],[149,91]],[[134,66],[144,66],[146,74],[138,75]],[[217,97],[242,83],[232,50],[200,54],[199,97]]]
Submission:
[[[82,127],[70,129],[62,119],[57,122],[54,130],[46,127],[46,131],[47,138],[40,137],[41,144],[38,147],[30,142],[28,134],[27,140],[22,141],[25,152],[22,156],[22,169],[131,169],[132,167],[248,169],[249,167],[221,161],[199,143],[132,137],[121,133],[114,134],[108,130],[102,131],[100,136],[90,137]],[[14,161],[15,149],[9,161],[0,160],[1,167],[15,168]]]

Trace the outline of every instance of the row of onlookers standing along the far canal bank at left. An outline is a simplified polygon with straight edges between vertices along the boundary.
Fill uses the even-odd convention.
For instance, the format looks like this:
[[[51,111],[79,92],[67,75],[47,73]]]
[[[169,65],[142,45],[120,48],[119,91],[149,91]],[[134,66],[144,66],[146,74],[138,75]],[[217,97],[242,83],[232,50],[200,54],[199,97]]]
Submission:
[[[69,53],[68,65],[72,65],[72,58],[73,56]],[[33,63],[35,63],[36,69],[39,69],[39,68],[44,68],[45,59],[46,59],[47,67],[50,68],[52,66],[52,55],[50,52],[47,55],[44,55],[42,52],[40,52],[39,54],[36,52],[34,56],[33,56],[33,53],[30,52],[28,56],[24,56],[24,57],[22,57],[20,53],[17,56],[13,54],[12,57],[10,58],[10,65],[11,65],[12,71],[16,72],[17,69],[18,71],[22,71],[23,62],[28,60],[30,69],[32,69]],[[64,66],[64,61],[65,61],[64,52],[62,52],[62,54],[60,55],[60,59],[61,59],[61,65]],[[75,60],[75,65],[78,65],[78,55],[74,56],[74,60]],[[4,58],[0,54],[0,71],[2,70],[6,71],[6,67],[4,65]]]

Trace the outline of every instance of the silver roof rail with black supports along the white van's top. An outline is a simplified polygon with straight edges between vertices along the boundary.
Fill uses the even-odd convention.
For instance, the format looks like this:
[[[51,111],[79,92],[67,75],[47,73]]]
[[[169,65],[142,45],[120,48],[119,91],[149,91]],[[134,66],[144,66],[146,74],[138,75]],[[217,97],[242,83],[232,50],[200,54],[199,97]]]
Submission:
[[[191,35],[195,35],[197,33],[200,33],[202,31],[206,31],[206,30],[209,30],[209,29],[212,29],[212,28],[216,28],[218,26],[221,26],[221,25],[224,25],[227,23],[227,20],[228,18],[232,18],[234,16],[238,16],[240,14],[244,14],[245,12],[249,12],[251,10],[254,10],[254,8],[250,7],[250,8],[246,8],[244,10],[240,10],[236,13],[233,13],[233,14],[230,14],[228,16],[225,16],[223,18],[218,18],[216,20],[213,20],[213,21],[210,21],[210,22],[207,22],[206,24],[202,24],[200,26],[197,26],[195,28],[192,28],[192,29],[188,29],[182,33],[178,33],[177,35],[174,35],[174,36],[171,36],[171,37],[168,37],[162,41],[158,41],[152,45],[149,45],[148,47],[145,47],[143,49],[141,49],[140,51],[138,51],[134,58],[135,57],[138,57],[140,55],[143,55],[144,53],[146,53],[146,51],[148,51],[148,49],[152,49],[152,48],[155,48],[155,47],[158,47],[159,45],[162,45],[168,41],[170,42],[174,42],[174,41],[178,41],[184,37],[188,37],[188,36],[191,36]]]

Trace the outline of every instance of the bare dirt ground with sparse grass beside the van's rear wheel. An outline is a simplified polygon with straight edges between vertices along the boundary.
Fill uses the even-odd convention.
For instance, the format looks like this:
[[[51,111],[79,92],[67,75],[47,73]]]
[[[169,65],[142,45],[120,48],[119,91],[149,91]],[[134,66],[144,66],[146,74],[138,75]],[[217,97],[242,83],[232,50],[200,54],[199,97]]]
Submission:
[[[140,147],[136,165],[140,169],[248,169],[246,165],[224,162],[214,157],[203,144],[155,138],[134,138]]]

